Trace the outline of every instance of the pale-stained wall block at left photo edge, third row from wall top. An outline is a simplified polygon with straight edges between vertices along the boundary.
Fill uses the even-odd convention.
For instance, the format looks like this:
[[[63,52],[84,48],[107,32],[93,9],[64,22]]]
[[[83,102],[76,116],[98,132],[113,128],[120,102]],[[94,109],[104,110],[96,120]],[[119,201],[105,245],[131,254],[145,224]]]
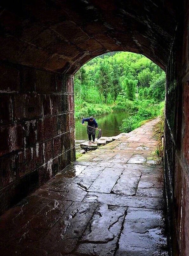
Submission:
[[[23,127],[14,124],[0,128],[0,156],[19,150],[24,146]]]

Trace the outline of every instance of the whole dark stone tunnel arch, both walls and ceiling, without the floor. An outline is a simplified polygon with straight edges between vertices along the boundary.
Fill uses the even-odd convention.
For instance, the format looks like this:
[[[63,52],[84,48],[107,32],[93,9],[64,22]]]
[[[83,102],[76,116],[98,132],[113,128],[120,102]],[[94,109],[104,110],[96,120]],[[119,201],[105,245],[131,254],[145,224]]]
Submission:
[[[172,255],[188,255],[188,1],[2,1],[1,214],[75,160],[74,73],[109,51],[166,72],[164,180]]]

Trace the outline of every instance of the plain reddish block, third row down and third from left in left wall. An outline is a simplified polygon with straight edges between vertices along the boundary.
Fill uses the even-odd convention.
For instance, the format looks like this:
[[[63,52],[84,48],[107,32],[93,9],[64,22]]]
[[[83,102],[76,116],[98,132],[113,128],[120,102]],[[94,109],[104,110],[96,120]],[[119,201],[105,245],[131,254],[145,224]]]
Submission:
[[[38,142],[57,135],[57,117],[45,117],[37,121]]]

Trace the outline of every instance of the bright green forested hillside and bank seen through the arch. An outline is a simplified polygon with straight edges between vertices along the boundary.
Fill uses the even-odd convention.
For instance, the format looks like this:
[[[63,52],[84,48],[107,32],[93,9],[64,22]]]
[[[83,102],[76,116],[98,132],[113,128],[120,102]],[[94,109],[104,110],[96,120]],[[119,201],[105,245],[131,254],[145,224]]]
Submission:
[[[164,106],[165,72],[140,54],[98,56],[77,71],[74,84],[75,117],[126,111],[122,132],[158,116]]]

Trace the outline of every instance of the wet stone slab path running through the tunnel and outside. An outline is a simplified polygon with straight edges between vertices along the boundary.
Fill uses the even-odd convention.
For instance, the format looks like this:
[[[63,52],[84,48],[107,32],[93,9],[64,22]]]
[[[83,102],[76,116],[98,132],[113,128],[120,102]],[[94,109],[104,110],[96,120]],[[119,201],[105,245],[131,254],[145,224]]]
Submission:
[[[1,255],[168,255],[157,122],[83,155],[5,212]]]

